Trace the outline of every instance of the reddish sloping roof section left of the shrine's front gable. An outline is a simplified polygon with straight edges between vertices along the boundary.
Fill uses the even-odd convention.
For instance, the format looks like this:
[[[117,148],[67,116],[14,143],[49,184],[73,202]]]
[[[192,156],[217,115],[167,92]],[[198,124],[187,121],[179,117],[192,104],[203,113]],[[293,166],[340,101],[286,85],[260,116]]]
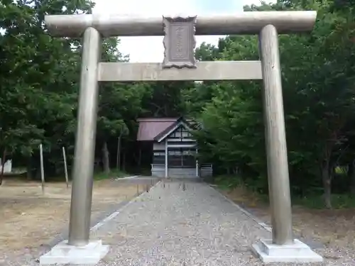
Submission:
[[[161,132],[172,126],[177,118],[139,118],[138,141],[152,141]]]

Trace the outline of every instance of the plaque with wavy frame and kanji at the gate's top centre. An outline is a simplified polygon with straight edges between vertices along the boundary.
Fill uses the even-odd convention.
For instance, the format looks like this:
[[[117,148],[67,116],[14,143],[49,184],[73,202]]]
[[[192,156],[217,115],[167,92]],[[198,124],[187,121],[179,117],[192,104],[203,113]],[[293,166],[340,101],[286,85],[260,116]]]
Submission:
[[[163,68],[196,67],[195,60],[195,25],[197,16],[175,18],[163,16],[164,26],[164,61]]]

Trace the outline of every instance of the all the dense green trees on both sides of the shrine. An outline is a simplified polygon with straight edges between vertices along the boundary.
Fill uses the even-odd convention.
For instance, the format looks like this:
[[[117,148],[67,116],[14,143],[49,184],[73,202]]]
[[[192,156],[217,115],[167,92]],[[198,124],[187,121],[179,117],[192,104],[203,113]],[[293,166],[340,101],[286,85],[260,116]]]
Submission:
[[[87,0],[0,1],[0,157],[62,174],[62,147],[71,166],[74,150],[80,40],[52,38],[47,13],[90,13]],[[355,21],[351,1],[279,1],[245,11],[318,11],[311,34],[280,36],[283,96],[292,192],[355,193]],[[118,38],[104,40],[104,61],[129,60]],[[258,60],[257,36],[227,36],[216,47],[202,44],[198,60]],[[200,160],[216,174],[267,192],[261,82],[150,82],[101,84],[97,123],[99,167],[141,171],[149,155],[136,143],[138,117],[190,116],[202,121],[196,133]],[[119,153],[117,152],[119,150]],[[117,165],[117,162],[118,165]],[[34,170],[34,171],[32,171]]]

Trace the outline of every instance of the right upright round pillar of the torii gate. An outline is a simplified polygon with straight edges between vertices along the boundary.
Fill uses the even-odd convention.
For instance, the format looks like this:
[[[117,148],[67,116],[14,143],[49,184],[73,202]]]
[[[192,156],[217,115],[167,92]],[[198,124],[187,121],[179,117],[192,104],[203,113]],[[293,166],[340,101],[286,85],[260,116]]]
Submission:
[[[259,46],[273,243],[283,245],[293,243],[293,228],[278,31],[275,26],[268,25],[261,30]]]

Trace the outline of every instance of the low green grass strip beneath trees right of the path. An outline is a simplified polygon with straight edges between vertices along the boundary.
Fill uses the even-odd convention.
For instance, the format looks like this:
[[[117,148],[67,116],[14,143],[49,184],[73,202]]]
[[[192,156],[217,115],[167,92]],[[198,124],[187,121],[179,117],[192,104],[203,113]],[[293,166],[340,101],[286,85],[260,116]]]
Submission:
[[[219,189],[227,192],[237,191],[241,199],[251,200],[268,204],[268,195],[256,192],[252,186],[244,184],[239,177],[219,176],[214,179],[214,184],[217,184]],[[333,209],[352,209],[355,208],[355,195],[351,194],[332,194],[331,202]],[[324,209],[324,198],[320,193],[310,194],[307,196],[293,196],[293,206],[303,206],[307,209]]]

